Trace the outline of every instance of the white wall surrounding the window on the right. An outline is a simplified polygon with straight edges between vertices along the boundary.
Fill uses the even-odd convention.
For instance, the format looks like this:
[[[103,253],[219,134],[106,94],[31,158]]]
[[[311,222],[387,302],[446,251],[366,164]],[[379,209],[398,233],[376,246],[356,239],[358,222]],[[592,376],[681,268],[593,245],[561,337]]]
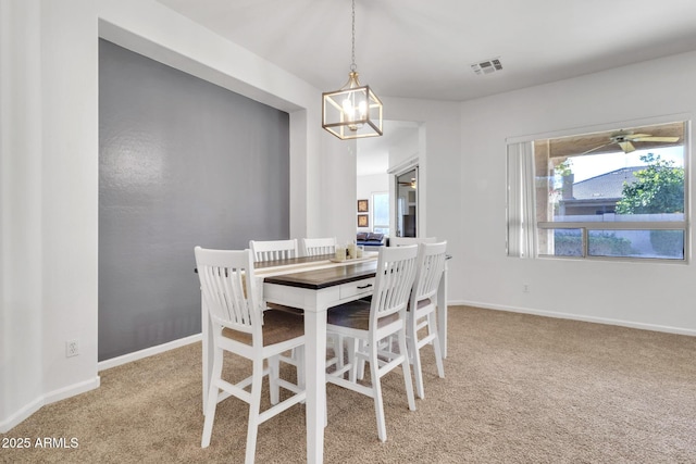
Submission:
[[[462,103],[462,152],[450,156],[461,158],[461,284],[450,301],[696,335],[693,264],[520,260],[505,250],[506,138],[692,117],[694,83],[696,52]]]

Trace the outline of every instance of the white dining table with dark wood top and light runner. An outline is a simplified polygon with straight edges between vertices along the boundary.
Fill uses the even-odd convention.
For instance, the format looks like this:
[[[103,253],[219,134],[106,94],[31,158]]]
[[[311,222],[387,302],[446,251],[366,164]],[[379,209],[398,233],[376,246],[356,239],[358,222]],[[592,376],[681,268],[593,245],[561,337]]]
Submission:
[[[324,455],[324,417],[326,410],[326,311],[335,305],[372,294],[377,252],[365,252],[362,259],[335,262],[333,256],[308,256],[276,262],[256,263],[256,276],[263,279],[263,299],[269,303],[300,308],[304,311],[304,385],[307,388],[307,462],[322,463]],[[438,301],[446,302],[446,275],[443,276]],[[447,304],[439,304],[438,331],[446,334]],[[210,385],[213,346],[209,336],[211,322],[204,303],[203,404]],[[446,348],[446,336],[440,343]],[[445,351],[443,351],[443,354]]]

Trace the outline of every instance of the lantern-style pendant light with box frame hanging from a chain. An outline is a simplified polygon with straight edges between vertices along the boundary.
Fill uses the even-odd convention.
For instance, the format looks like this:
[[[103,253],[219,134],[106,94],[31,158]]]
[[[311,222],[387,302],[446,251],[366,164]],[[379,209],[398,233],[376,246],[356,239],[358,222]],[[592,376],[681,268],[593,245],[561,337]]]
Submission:
[[[322,93],[322,127],[341,140],[382,135],[382,101],[358,80],[356,65],[356,0],[352,0],[352,63],[339,90]]]

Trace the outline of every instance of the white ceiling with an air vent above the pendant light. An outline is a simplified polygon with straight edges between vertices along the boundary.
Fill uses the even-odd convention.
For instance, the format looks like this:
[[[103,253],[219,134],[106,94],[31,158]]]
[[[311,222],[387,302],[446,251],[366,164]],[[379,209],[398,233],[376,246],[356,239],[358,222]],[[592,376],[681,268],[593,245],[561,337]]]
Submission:
[[[158,1],[322,91],[348,78],[350,0]],[[463,101],[696,50],[695,23],[694,0],[356,0],[356,63],[380,97]]]

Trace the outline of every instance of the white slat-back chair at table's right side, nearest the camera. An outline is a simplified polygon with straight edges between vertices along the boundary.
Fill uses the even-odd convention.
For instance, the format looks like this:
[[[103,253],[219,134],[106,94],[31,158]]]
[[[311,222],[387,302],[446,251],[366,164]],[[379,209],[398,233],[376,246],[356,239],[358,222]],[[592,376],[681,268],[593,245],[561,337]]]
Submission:
[[[387,439],[382,400],[381,378],[401,365],[409,409],[415,410],[411,369],[409,366],[406,321],[409,296],[415,278],[418,247],[386,248],[380,250],[375,290],[371,302],[355,301],[328,310],[326,330],[351,341],[349,362],[326,374],[326,381],[348,388],[374,399],[377,436]],[[380,340],[396,336],[398,352],[391,347],[380,349]],[[356,340],[361,349],[355,350]],[[371,385],[356,381],[356,366],[360,361],[370,363]],[[385,361],[386,360],[386,361]],[[348,373],[348,379],[344,378]]]

